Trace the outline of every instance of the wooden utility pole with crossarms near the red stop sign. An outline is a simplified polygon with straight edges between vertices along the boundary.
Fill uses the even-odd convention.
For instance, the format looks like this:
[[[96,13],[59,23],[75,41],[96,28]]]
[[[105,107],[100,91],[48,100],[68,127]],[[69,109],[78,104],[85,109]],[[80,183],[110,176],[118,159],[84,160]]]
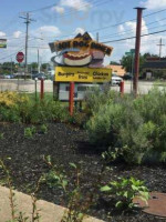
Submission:
[[[29,24],[32,21],[35,21],[33,19],[30,19],[30,13],[27,12],[24,17],[20,17],[21,19],[24,19],[25,23],[25,58],[24,58],[24,80],[25,80],[25,73],[28,73],[28,47],[29,47]]]

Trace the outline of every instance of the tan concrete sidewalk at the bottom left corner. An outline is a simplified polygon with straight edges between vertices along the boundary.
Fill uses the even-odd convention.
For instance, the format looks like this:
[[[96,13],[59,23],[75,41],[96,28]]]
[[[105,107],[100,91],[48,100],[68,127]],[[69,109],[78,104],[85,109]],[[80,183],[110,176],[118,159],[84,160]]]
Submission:
[[[32,200],[30,195],[14,191],[15,204],[19,212],[25,212],[25,215],[31,219]],[[41,222],[61,222],[65,209],[46,201],[38,201],[40,209]],[[0,222],[11,220],[11,208],[9,201],[9,189],[0,186]],[[31,220],[30,220],[31,221]],[[86,218],[84,222],[103,222],[94,218]]]

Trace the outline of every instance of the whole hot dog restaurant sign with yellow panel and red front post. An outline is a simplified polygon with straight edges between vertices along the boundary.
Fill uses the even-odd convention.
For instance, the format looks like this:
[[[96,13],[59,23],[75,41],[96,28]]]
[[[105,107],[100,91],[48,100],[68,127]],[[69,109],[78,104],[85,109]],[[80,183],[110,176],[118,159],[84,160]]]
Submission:
[[[79,91],[83,94],[86,87],[85,90],[79,90],[77,85],[103,84],[111,81],[112,70],[104,68],[104,58],[111,56],[113,48],[93,40],[87,32],[79,33],[74,39],[51,42],[49,46],[52,52],[56,52],[56,56],[51,59],[55,64],[54,82],[70,83],[68,100],[72,115],[74,100],[77,101],[77,97],[74,97],[74,83],[76,83],[77,94]]]

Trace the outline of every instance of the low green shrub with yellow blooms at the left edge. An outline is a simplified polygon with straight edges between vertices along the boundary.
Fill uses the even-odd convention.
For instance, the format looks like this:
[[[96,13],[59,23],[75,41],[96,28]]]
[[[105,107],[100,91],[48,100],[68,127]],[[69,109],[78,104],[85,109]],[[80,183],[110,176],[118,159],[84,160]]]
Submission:
[[[65,122],[66,109],[52,98],[34,100],[31,95],[7,92],[0,94],[0,121],[22,123]]]

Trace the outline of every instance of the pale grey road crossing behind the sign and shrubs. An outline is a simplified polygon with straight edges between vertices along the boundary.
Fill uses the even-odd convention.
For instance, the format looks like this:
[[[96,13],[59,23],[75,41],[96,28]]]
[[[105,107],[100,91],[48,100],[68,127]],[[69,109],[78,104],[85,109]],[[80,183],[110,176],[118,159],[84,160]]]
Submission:
[[[138,93],[145,94],[154,87],[154,82],[139,81],[138,83]],[[165,84],[166,87],[166,84]],[[159,89],[163,89],[164,85],[159,85]],[[113,90],[120,91],[120,87],[112,87]],[[29,92],[32,93],[35,91],[34,80],[2,80],[0,79],[0,91],[19,91],[19,92]],[[40,81],[37,82],[37,90],[40,92]],[[51,80],[44,81],[44,91],[53,92],[53,82]],[[125,93],[131,92],[131,81],[125,81]]]

